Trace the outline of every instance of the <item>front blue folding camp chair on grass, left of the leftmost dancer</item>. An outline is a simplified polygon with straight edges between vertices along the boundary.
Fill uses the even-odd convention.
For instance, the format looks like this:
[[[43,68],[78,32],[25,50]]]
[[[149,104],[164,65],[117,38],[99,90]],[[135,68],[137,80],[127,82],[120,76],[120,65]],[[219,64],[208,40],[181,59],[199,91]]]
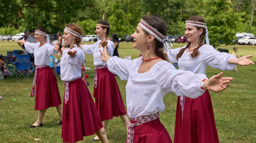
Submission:
[[[28,79],[30,75],[29,68],[32,64],[30,62],[30,55],[17,54],[17,62],[14,62],[14,64],[16,65],[16,78],[23,76]]]

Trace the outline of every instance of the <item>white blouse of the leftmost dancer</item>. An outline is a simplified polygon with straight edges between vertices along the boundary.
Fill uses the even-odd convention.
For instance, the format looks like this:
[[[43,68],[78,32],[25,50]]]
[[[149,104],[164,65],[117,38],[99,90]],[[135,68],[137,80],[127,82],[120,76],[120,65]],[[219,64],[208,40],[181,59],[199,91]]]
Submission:
[[[53,50],[54,46],[49,43],[46,43],[41,47],[39,47],[39,45],[40,42],[30,43],[26,41],[24,46],[28,53],[34,53],[36,66],[49,66],[51,64],[49,56],[56,54],[58,51]]]

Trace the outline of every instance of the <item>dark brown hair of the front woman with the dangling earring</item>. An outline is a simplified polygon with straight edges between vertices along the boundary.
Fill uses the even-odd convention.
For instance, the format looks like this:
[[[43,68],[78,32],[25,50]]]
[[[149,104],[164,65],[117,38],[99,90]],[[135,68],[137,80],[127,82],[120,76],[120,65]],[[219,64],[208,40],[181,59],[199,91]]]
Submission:
[[[157,29],[157,31],[160,32],[162,35],[166,36],[167,26],[165,21],[154,16],[144,17],[142,19],[145,20],[150,26]],[[150,33],[148,33],[146,30],[143,29],[143,31],[146,35],[150,35]],[[167,60],[167,57],[165,56],[166,53],[163,51],[163,42],[160,42],[156,38],[154,38],[154,44],[156,45],[156,55],[161,57],[163,60]]]

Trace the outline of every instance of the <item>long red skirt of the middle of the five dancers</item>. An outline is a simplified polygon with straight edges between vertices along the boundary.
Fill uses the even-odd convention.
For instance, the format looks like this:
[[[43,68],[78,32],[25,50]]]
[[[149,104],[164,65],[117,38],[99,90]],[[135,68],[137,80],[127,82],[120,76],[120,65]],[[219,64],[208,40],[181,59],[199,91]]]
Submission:
[[[108,68],[97,69],[97,88],[93,95],[102,121],[127,114],[115,75]]]

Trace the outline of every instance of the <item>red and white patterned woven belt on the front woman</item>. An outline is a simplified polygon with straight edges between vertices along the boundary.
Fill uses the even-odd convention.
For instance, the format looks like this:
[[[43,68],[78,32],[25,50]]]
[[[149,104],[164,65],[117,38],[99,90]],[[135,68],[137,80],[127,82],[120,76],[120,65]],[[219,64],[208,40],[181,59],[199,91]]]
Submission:
[[[127,129],[127,143],[133,143],[134,126],[139,126],[143,123],[150,122],[151,120],[156,120],[158,118],[159,118],[159,113],[148,115],[148,116],[130,118],[130,125],[128,126],[128,129]],[[138,122],[131,123],[131,120],[138,121]]]

